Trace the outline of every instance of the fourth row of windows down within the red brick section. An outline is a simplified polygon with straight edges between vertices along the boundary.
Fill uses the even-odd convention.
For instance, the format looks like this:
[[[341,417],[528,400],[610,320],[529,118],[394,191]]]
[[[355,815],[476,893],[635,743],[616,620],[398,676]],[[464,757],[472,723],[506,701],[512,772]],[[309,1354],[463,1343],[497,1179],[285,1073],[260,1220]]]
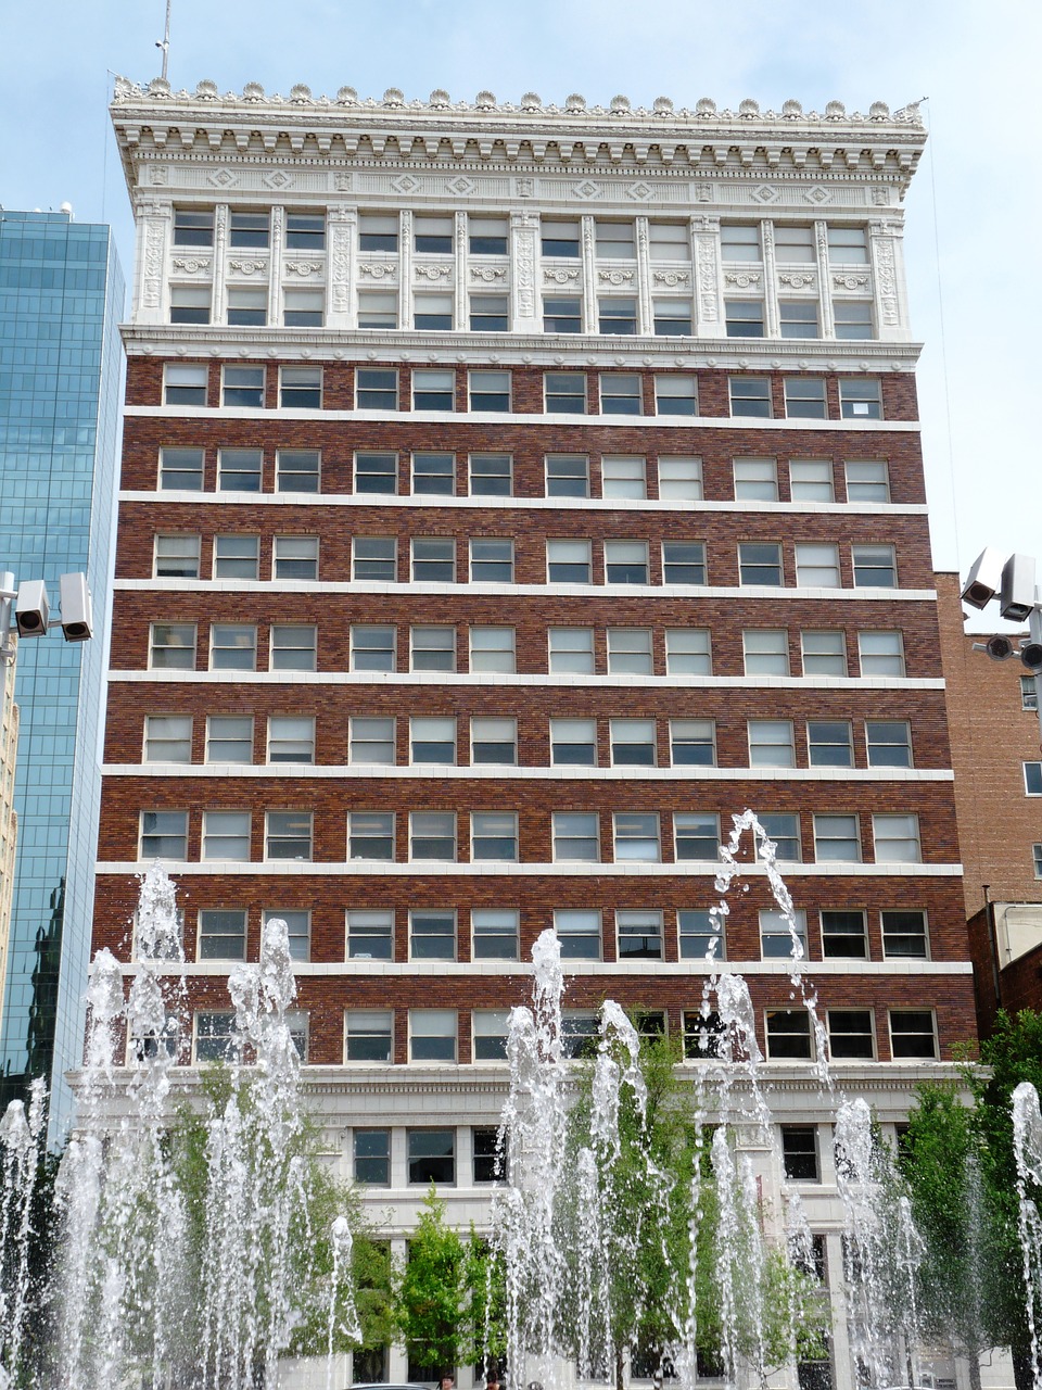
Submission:
[[[517,630],[506,626],[472,624],[464,628],[467,670],[472,674],[517,671]],[[256,671],[258,669],[256,623],[210,624],[208,660],[213,671]],[[458,663],[457,628],[449,624],[408,628],[402,657],[410,671],[452,674]],[[749,641],[752,671],[785,674],[782,670],[782,628],[757,628],[743,634]],[[843,634],[803,634],[804,674],[846,676]],[[864,630],[857,634],[861,676],[904,676],[904,646],[899,631]],[[353,673],[399,670],[397,628],[392,624],[353,623],[349,663]],[[197,624],[153,623],[149,630],[150,670],[196,670]],[[207,655],[207,653],[204,653]],[[841,669],[842,667],[842,669]],[[318,628],[304,623],[272,623],[268,639],[268,669],[272,671],[317,671]],[[650,627],[609,627],[603,646],[592,627],[547,628],[550,676],[711,676],[710,631],[704,627],[667,627],[661,644]]]

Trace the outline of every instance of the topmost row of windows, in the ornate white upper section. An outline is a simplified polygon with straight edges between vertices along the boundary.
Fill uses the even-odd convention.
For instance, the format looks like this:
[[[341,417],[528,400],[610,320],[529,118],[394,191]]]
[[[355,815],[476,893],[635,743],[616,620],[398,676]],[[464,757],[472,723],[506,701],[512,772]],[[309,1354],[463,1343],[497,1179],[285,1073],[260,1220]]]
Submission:
[[[174,245],[213,246],[215,218],[213,208],[175,207]],[[577,217],[540,218],[540,247],[550,259],[579,260],[582,224]],[[397,254],[400,242],[399,213],[358,213],[358,250]],[[636,260],[636,224],[632,218],[593,220],[596,254],[609,260]],[[508,254],[510,224],[506,217],[467,214],[465,236],[471,256]],[[806,264],[817,260],[814,228],[792,222],[774,222],[774,254],[779,264]],[[289,250],[325,249],[325,214],[322,211],[285,211],[285,245]],[[825,240],[829,263],[867,265],[868,235],[864,225],[829,222]],[[263,250],[271,245],[271,214],[267,210],[231,208],[228,245],[233,250]],[[690,222],[659,221],[647,224],[652,260],[690,260]],[[760,222],[721,222],[720,246],[725,261],[760,261]],[[413,250],[418,256],[452,256],[456,252],[454,213],[417,213],[413,217]]]

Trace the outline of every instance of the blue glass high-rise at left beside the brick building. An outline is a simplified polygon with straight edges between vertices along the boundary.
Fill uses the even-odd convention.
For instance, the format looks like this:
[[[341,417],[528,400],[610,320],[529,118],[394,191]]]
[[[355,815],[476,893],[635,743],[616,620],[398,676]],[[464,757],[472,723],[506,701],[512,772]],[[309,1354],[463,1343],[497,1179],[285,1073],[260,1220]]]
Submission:
[[[0,570],[86,570],[90,642],[22,639],[18,855],[0,1013],[0,1108],[50,1077],[51,1138],[64,1072],[82,1055],[107,598],[115,525],[124,281],[108,227],[64,213],[0,211]]]

